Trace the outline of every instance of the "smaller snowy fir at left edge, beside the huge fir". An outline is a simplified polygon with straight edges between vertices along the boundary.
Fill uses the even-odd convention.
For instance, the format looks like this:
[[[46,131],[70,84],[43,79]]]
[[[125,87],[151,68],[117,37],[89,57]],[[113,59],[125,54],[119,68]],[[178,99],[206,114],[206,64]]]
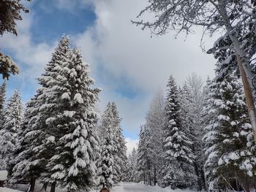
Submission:
[[[15,158],[14,152],[18,147],[17,134],[23,123],[23,104],[18,90],[7,101],[3,122],[0,131],[0,169],[7,169],[11,174],[12,161]]]

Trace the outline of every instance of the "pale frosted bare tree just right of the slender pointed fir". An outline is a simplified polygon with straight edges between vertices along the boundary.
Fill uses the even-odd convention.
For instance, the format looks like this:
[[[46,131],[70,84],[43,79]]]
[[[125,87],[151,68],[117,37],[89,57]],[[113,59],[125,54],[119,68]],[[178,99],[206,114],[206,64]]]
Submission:
[[[187,77],[181,89],[181,120],[182,127],[187,130],[187,136],[192,141],[192,153],[195,156],[194,167],[197,175],[197,189],[202,190],[204,185],[203,174],[203,81],[193,73]]]

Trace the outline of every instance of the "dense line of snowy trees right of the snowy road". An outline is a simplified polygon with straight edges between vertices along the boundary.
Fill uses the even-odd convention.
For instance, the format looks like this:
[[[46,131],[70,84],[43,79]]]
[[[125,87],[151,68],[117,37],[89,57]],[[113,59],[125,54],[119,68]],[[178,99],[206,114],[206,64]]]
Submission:
[[[140,128],[130,180],[173,189],[252,191],[256,145],[236,72],[219,61],[216,77],[205,86],[192,74],[178,88],[170,76],[165,107],[159,107],[159,93]],[[154,137],[158,142],[152,145]]]

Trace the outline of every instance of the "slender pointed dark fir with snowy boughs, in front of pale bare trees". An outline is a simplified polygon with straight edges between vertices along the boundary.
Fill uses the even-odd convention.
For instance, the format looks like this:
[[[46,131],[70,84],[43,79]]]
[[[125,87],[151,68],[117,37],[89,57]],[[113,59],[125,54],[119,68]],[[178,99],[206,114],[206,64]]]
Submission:
[[[194,155],[187,130],[181,125],[178,89],[172,76],[167,83],[164,127],[164,162],[159,184],[163,187],[189,188],[195,185]]]

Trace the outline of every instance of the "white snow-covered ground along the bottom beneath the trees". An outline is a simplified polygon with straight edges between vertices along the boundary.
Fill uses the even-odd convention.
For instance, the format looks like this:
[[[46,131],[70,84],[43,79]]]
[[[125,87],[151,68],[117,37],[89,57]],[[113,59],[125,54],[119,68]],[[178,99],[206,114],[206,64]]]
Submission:
[[[48,188],[48,191],[50,188]],[[99,192],[100,189],[91,191]],[[60,188],[57,188],[56,191],[63,191]],[[10,188],[0,188],[0,192],[20,192],[18,190],[13,190]],[[64,191],[63,191],[64,192]],[[159,186],[148,186],[140,183],[120,183],[120,185],[112,188],[110,192],[192,192],[190,190],[171,190],[170,188],[160,188]]]

